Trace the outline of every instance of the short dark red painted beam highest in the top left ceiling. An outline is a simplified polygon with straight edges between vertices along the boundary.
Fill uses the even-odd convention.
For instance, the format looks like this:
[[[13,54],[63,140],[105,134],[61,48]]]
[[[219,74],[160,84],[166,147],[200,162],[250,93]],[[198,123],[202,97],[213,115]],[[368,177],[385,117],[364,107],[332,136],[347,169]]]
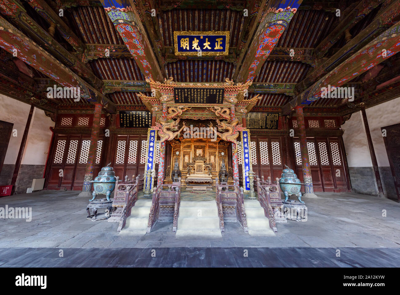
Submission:
[[[85,51],[85,45],[82,40],[72,32],[70,27],[58,16],[58,13],[54,12],[53,8],[44,0],[26,0],[26,2],[28,2],[50,26],[55,25],[61,36],[76,50],[76,52],[83,53]]]

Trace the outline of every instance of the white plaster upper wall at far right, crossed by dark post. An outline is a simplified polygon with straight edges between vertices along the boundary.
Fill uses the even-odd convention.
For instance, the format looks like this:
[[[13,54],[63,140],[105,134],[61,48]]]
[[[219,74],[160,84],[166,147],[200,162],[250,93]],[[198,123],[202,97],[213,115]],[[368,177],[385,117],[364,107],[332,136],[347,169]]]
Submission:
[[[365,110],[375,156],[379,167],[388,167],[389,160],[381,127],[400,123],[400,97]],[[372,167],[361,111],[353,113],[341,126],[349,167]]]

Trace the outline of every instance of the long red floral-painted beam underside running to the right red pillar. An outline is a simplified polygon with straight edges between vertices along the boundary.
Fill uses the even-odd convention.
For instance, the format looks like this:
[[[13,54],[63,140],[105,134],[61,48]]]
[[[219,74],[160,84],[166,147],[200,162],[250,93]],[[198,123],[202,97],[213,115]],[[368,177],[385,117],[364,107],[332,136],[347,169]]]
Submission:
[[[382,52],[386,50],[386,57]],[[343,63],[324,75],[318,82],[297,95],[284,105],[284,115],[289,114],[298,105],[309,105],[321,97],[322,87],[328,85],[334,87],[343,86],[358,75],[365,73],[372,67],[386,61],[392,55],[400,51],[400,22],[385,30],[374,40],[366,44]]]

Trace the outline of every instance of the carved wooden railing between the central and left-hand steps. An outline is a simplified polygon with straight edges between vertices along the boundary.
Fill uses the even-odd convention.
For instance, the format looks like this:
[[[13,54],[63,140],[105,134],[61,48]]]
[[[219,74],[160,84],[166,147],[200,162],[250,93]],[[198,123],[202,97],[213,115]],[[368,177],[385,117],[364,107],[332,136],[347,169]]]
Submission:
[[[147,232],[151,232],[157,221],[172,221],[172,232],[176,232],[180,207],[180,188],[180,180],[172,184],[159,183],[154,188]]]

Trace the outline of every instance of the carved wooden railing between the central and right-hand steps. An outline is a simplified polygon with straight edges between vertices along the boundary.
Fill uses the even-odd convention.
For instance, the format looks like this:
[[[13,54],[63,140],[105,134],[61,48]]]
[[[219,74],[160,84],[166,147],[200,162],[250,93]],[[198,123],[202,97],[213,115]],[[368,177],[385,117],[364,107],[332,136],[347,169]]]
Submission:
[[[218,206],[218,215],[220,217],[221,232],[224,232],[224,219],[227,219],[226,214],[223,212],[224,209],[234,209],[236,221],[239,222],[244,232],[248,232],[242,188],[234,184],[218,184],[218,181],[216,181],[216,202]],[[230,221],[234,220],[230,219]]]

